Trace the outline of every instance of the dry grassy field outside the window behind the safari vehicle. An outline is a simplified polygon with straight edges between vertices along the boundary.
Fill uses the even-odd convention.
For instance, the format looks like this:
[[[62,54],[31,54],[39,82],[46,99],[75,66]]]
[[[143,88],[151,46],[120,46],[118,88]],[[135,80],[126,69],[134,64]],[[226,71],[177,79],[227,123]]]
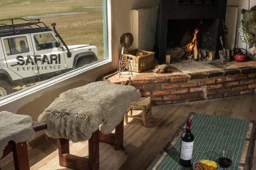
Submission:
[[[47,26],[56,23],[56,29],[67,45],[90,44],[98,48],[103,59],[102,0],[3,0],[0,2],[0,19],[21,18],[30,15],[64,12],[87,12],[59,17],[42,17]]]

